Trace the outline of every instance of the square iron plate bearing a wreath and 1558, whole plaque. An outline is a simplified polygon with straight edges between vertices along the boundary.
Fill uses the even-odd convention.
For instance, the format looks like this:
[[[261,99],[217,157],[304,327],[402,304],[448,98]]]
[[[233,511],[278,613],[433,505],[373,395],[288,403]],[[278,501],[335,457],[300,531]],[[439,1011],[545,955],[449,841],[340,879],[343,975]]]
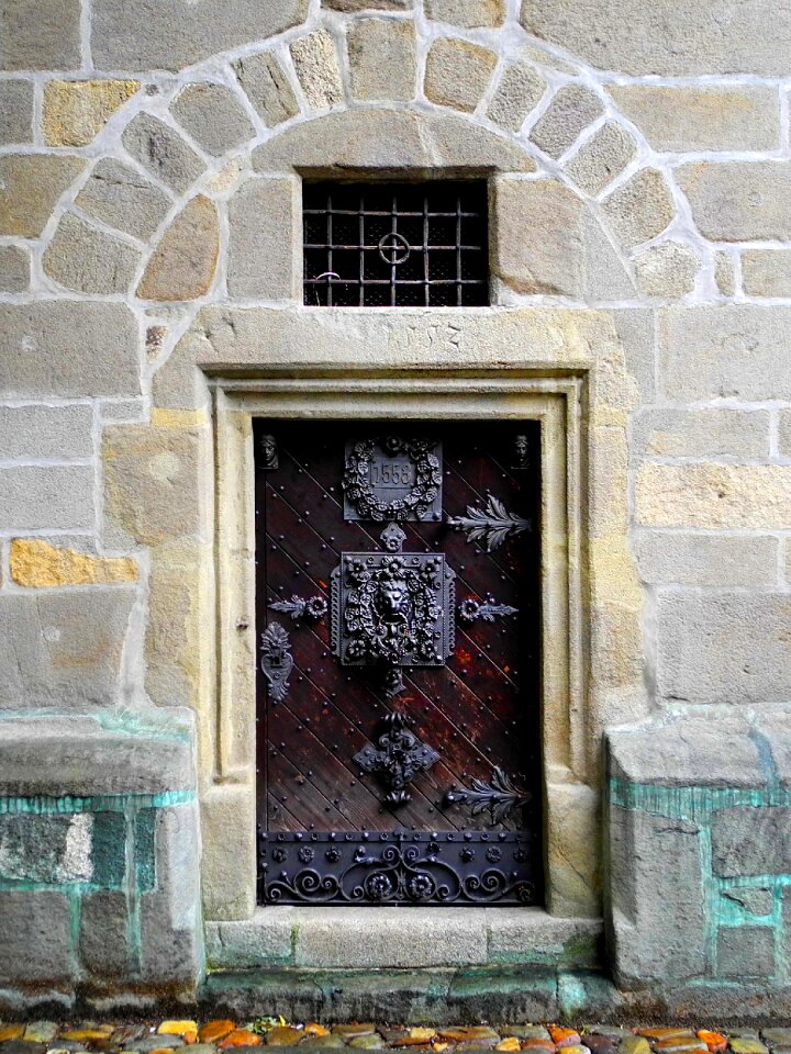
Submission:
[[[344,518],[442,519],[441,458],[431,439],[386,436],[352,444],[341,484]]]

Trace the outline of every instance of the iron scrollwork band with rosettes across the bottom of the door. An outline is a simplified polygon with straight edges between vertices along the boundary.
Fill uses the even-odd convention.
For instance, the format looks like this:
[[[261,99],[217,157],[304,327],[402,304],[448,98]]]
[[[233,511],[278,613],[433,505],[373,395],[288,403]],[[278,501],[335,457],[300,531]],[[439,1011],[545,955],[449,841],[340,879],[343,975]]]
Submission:
[[[530,833],[312,831],[258,836],[265,904],[528,905]]]

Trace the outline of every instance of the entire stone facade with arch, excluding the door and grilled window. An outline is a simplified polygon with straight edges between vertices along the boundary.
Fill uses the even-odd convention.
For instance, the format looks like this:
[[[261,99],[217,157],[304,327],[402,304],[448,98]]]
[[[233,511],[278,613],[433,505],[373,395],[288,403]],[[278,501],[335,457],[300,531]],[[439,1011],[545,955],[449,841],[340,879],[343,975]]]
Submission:
[[[787,5],[0,29],[0,1007],[791,1013]],[[303,305],[303,179],[448,176],[491,306]],[[252,422],[352,405],[541,422],[544,907],[256,906]]]

